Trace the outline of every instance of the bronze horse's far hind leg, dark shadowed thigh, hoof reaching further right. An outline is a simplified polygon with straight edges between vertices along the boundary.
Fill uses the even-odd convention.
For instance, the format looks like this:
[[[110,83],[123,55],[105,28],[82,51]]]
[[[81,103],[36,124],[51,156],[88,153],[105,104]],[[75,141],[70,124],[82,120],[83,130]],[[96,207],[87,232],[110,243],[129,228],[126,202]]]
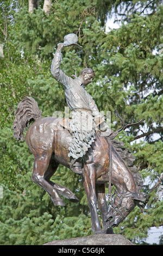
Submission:
[[[51,177],[53,176],[53,174],[56,172],[58,166],[59,166],[59,163],[55,162],[55,160],[52,157],[49,162],[46,173],[44,175],[45,179],[49,182],[50,185],[52,185],[52,187],[55,190],[57,190],[57,192],[59,194],[61,194],[61,196],[67,198],[68,200],[70,200],[73,203],[79,202],[79,199],[76,197],[76,195],[74,193],[72,193],[70,190],[68,190],[67,187],[56,184],[55,182],[50,180]]]

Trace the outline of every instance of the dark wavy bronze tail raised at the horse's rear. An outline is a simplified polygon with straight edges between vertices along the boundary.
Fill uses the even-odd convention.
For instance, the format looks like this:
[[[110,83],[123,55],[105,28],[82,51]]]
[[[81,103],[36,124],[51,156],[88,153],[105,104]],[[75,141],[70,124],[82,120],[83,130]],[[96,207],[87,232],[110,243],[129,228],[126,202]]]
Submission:
[[[37,102],[32,97],[24,97],[18,104],[14,125],[12,126],[17,141],[20,139],[23,141],[23,131],[26,131],[26,127],[29,127],[33,120],[40,118],[41,114],[42,111],[40,111]]]

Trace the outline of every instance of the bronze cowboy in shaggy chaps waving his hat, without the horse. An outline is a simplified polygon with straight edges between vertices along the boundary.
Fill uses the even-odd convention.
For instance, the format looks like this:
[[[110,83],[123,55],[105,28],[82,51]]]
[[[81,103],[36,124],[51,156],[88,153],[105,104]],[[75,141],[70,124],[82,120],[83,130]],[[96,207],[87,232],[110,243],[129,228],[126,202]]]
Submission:
[[[64,85],[65,96],[68,107],[72,111],[72,119],[69,122],[72,141],[70,143],[70,169],[73,172],[82,174],[81,160],[86,151],[95,141],[96,126],[101,124],[100,130],[109,129],[103,116],[99,113],[95,101],[91,95],[86,92],[85,87],[91,83],[95,77],[95,72],[92,69],[85,68],[80,72],[79,77],[75,79],[68,77],[60,69],[61,51],[65,46],[76,45],[78,37],[75,34],[68,34],[64,38],[64,43],[58,44],[57,51],[51,65],[52,76]]]

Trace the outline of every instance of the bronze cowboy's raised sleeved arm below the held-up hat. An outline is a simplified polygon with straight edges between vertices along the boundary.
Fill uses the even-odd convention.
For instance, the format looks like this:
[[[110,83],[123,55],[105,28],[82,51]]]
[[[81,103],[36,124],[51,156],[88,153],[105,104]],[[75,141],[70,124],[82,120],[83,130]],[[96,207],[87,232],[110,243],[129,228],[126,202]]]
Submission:
[[[66,89],[68,89],[72,78],[66,76],[64,72],[60,69],[60,62],[62,58],[61,51],[63,48],[64,48],[64,44],[58,45],[57,51],[55,52],[54,58],[52,60],[51,73],[52,73],[52,76],[55,78],[55,80],[57,80],[61,84],[64,84]]]

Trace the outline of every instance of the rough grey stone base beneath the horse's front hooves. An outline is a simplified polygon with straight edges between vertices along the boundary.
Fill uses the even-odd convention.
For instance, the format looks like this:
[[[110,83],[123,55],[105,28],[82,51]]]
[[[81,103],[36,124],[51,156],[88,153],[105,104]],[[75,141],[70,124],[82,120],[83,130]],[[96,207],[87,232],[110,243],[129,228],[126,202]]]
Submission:
[[[55,240],[45,243],[45,245],[133,245],[128,239],[119,234],[100,234],[84,237],[76,237],[72,239]]]

